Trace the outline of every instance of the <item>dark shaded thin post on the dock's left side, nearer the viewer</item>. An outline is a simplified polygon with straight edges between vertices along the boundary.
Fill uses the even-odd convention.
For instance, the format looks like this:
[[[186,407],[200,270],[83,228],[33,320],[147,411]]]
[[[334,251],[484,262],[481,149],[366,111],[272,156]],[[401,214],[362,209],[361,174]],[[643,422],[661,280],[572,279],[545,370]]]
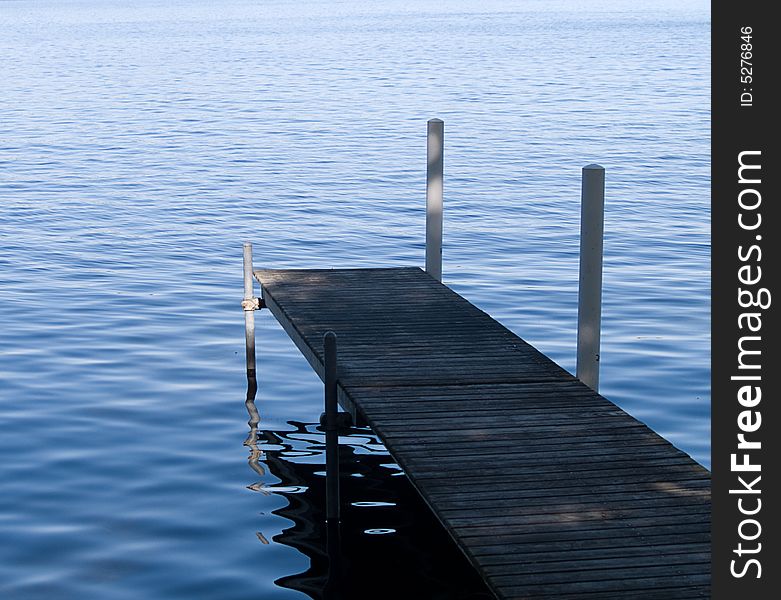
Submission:
[[[339,522],[339,405],[336,391],[336,334],[323,336],[325,366],[325,518]]]

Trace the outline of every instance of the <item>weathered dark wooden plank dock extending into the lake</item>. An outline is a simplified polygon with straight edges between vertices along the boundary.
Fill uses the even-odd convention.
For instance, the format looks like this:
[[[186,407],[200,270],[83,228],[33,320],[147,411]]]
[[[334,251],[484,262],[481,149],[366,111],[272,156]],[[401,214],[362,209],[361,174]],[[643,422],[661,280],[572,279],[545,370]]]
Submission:
[[[710,475],[418,268],[255,270],[497,598],[709,596]]]

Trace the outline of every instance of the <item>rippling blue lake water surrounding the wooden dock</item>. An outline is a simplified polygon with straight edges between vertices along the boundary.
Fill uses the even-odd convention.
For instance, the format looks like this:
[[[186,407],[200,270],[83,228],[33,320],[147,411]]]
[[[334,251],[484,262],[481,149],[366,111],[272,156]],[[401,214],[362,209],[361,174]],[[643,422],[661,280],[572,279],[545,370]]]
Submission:
[[[241,243],[422,264],[435,116],[445,281],[571,371],[606,167],[601,391],[709,466],[709,29],[685,0],[0,2],[0,596],[321,595],[322,387],[263,311],[245,405]],[[343,441],[348,597],[485,597]]]

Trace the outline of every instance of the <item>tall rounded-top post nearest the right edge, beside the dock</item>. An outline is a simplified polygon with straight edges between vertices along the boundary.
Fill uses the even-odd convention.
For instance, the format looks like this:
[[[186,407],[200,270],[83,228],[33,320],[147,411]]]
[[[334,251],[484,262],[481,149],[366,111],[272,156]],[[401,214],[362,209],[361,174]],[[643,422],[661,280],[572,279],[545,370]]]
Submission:
[[[580,206],[580,283],[578,290],[577,377],[599,390],[599,338],[602,318],[602,236],[605,169],[583,167]]]

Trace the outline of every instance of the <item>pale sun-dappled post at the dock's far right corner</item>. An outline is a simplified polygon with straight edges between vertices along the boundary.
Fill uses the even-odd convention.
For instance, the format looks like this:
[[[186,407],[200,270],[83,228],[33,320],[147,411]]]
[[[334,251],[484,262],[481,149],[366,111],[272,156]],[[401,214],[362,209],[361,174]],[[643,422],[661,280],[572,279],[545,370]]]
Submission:
[[[426,167],[426,272],[442,281],[442,204],[444,189],[445,123],[428,122]]]

